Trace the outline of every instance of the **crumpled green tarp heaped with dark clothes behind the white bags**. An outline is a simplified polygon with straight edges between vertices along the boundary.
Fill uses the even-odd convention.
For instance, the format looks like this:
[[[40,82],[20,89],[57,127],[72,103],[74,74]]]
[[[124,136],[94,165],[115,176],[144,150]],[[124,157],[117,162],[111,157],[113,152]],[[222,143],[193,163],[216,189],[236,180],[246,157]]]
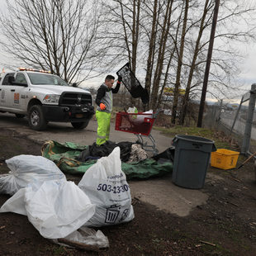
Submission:
[[[86,173],[88,168],[96,164],[97,159],[107,156],[119,146],[121,149],[121,170],[126,173],[127,180],[132,178],[153,178],[164,176],[173,171],[173,155],[166,154],[166,149],[161,154],[149,158],[140,144],[131,142],[115,143],[107,141],[101,146],[78,145],[73,142],[60,144],[55,140],[46,141],[42,146],[42,156],[50,159],[61,169],[63,173]],[[161,159],[161,161],[159,161]]]

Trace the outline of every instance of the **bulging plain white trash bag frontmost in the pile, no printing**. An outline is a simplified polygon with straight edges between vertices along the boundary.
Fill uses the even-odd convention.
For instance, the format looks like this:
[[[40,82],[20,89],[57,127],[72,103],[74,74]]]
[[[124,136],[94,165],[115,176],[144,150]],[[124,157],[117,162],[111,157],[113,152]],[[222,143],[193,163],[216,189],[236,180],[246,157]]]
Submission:
[[[0,212],[24,214],[40,235],[64,238],[78,230],[95,212],[88,196],[73,182],[30,183],[7,200]]]

